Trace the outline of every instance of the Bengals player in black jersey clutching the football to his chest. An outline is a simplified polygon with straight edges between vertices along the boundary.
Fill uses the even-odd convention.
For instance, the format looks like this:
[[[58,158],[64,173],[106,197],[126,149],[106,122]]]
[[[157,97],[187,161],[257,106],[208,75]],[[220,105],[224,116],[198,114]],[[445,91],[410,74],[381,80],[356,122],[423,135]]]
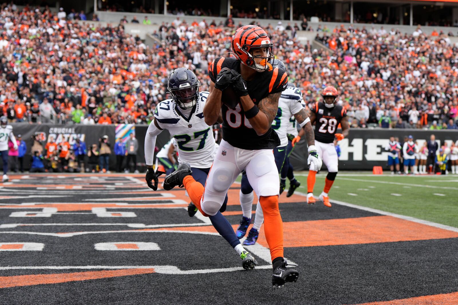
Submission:
[[[240,27],[232,36],[231,44],[234,57],[215,59],[208,71],[212,82],[203,114],[208,125],[222,116],[223,140],[205,189],[190,176],[186,164],[165,177],[164,187],[183,184],[197,209],[204,216],[214,215],[229,187],[245,170],[262,206],[273,264],[272,284],[279,287],[299,277],[297,270],[286,267],[283,255],[283,223],[278,209],[280,181],[273,157],[273,149],[280,140],[271,128],[281,92],[288,85],[288,74],[272,66],[273,43],[261,27]],[[223,103],[223,91],[229,87],[237,101]],[[226,104],[235,107],[229,108]],[[313,163],[321,165],[316,151],[312,154],[316,156]]]

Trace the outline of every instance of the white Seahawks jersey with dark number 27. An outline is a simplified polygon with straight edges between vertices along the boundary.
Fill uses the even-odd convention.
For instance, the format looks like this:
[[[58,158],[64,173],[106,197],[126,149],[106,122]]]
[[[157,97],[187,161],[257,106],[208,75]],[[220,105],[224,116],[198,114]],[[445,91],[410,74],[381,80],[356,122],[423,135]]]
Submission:
[[[196,168],[212,166],[215,138],[212,126],[208,126],[203,118],[207,97],[207,91],[199,92],[199,99],[189,119],[185,118],[172,99],[160,102],[156,107],[154,118],[159,127],[167,129],[176,140],[180,164],[187,162]]]

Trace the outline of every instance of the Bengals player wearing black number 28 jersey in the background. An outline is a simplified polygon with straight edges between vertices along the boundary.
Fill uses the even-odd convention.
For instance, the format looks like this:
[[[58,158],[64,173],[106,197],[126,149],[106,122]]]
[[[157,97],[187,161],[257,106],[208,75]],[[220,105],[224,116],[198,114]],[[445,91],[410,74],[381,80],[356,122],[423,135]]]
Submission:
[[[310,108],[310,121],[316,123],[315,126],[315,146],[318,154],[327,167],[327,176],[323,192],[319,199],[327,207],[331,207],[329,202],[329,190],[333,185],[338,171],[338,155],[334,147],[334,138],[340,141],[348,136],[350,127],[348,124],[347,111],[344,107],[336,105],[338,96],[337,89],[327,86],[322,92],[323,102],[316,102]],[[342,133],[336,134],[339,123]],[[313,187],[315,186],[315,175],[317,170],[310,166],[307,177],[307,203],[314,204]]]

